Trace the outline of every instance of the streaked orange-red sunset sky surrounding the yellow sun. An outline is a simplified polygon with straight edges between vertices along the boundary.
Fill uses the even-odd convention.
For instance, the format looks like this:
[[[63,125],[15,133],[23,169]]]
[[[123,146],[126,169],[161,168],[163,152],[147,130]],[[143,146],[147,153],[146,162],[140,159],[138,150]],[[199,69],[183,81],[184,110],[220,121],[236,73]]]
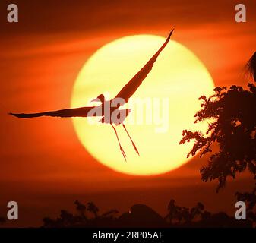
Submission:
[[[9,3],[19,7],[18,23],[6,21]],[[232,213],[235,191],[250,188],[246,173],[219,194],[216,183],[201,182],[207,156],[164,175],[123,175],[87,153],[70,119],[23,121],[7,113],[70,106],[74,80],[93,52],[123,36],[166,36],[172,27],[175,40],[204,62],[216,86],[245,86],[245,63],[255,51],[256,3],[243,1],[246,23],[235,22],[236,3],[1,1],[0,215],[9,200],[20,205],[14,226],[38,226],[43,216],[71,210],[74,200],[121,212],[144,203],[163,215],[171,198],[186,207],[201,201],[207,210]]]

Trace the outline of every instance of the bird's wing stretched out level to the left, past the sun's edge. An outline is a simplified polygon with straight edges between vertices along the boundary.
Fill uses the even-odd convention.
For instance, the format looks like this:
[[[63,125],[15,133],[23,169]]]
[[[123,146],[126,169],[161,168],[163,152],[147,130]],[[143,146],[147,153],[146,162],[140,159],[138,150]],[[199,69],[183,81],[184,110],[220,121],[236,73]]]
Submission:
[[[9,113],[10,115],[14,115],[18,118],[35,118],[40,116],[53,116],[53,117],[87,117],[87,116],[95,116],[94,112],[90,112],[91,109],[95,108],[94,106],[89,107],[81,107],[74,109],[60,109],[58,111],[52,112],[40,112],[40,113]],[[89,113],[90,112],[90,113]]]

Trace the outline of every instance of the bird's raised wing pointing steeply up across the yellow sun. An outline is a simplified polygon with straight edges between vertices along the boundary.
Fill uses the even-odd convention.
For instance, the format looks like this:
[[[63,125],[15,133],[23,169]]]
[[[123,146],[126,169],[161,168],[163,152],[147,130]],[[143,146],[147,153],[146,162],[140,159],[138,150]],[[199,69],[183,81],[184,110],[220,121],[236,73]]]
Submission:
[[[160,52],[162,52],[163,49],[166,47],[167,43],[169,43],[172,32],[173,30],[171,31],[171,33],[169,33],[169,36],[167,37],[165,43],[163,43],[163,46],[161,46],[161,48],[156,52],[155,55],[153,55],[150,61],[148,61],[147,64],[144,65],[144,67],[137,72],[137,74],[128,82],[128,84],[125,84],[125,87],[122,88],[122,90],[115,96],[115,98],[122,98],[125,99],[126,103],[128,102],[128,99],[141,85],[142,81],[147,77],[147,74],[150,73],[151,69],[153,68],[153,64],[156,62],[156,58],[158,57],[158,55],[160,55]]]

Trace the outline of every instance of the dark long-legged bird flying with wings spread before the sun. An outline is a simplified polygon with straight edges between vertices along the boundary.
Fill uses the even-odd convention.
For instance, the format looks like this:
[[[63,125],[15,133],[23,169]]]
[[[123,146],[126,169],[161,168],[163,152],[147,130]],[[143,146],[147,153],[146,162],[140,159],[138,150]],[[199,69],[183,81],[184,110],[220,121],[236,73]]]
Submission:
[[[128,103],[128,100],[130,99],[130,97],[135,93],[137,88],[141,85],[143,80],[147,77],[147,74],[150,73],[154,63],[156,62],[157,57],[160,55],[160,52],[162,52],[163,49],[166,47],[167,43],[169,43],[169,39],[172,36],[173,30],[169,33],[169,36],[167,37],[165,43],[163,43],[163,46],[161,46],[160,49],[153,55],[153,57],[150,58],[150,60],[146,63],[146,65],[144,65],[144,67],[141,68],[141,70],[138,71],[137,74],[135,74],[134,77],[132,77],[127,84],[125,84],[125,86],[122,88],[122,90],[120,90],[120,92],[115,96],[115,98],[111,100],[106,100],[105,96],[103,94],[100,94],[99,96],[96,97],[96,99],[92,100],[92,102],[96,102],[96,101],[100,102],[101,104],[99,106],[86,106],[81,108],[61,109],[56,111],[39,112],[39,113],[9,113],[9,114],[14,115],[17,118],[36,118],[40,116],[52,116],[52,117],[61,117],[61,118],[101,116],[102,118],[100,119],[99,122],[110,124],[114,129],[115,136],[119,142],[119,148],[122,152],[122,156],[124,157],[125,161],[126,161],[125,150],[123,150],[121,146],[119,136],[117,134],[117,131],[114,125],[117,126],[122,124],[123,128],[128,134],[129,139],[131,140],[131,144],[133,145],[134,150],[138,155],[140,155],[136,145],[134,144],[134,141],[131,139],[131,136],[128,133],[128,130],[125,127],[125,124],[123,123],[131,109],[119,109],[119,107],[123,106],[125,103]],[[109,107],[109,109],[106,109],[106,107]]]

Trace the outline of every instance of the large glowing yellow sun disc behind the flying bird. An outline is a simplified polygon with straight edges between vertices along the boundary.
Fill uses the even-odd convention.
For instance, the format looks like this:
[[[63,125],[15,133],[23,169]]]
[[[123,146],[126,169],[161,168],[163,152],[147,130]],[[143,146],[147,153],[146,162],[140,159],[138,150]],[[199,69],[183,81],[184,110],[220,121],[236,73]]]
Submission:
[[[109,99],[115,97],[165,40],[153,35],[127,36],[98,49],[77,76],[71,107],[92,106],[90,100],[100,93]],[[172,40],[127,104],[135,108],[128,116],[126,127],[140,156],[121,125],[117,131],[127,162],[110,125],[73,118],[74,129],[91,156],[117,172],[129,175],[169,172],[188,162],[186,155],[191,144],[179,145],[182,131],[205,131],[205,124],[194,125],[194,114],[200,109],[198,97],[212,92],[213,80],[204,64],[193,52]],[[144,106],[134,106],[138,101],[144,102]]]

